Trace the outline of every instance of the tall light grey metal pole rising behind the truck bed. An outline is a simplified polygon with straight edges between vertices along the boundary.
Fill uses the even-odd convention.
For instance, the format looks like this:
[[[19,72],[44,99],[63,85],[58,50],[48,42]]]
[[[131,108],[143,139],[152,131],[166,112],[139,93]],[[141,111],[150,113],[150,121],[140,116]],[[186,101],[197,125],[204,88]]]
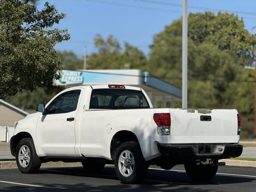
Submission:
[[[182,9],[182,108],[188,108],[188,0]]]

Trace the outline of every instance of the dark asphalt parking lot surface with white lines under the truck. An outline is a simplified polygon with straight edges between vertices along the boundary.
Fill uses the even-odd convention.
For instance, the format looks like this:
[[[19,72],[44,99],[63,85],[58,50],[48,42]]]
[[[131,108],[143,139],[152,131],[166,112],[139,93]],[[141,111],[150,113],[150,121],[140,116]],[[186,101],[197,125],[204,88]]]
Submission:
[[[142,184],[122,184],[113,166],[98,174],[86,173],[82,167],[46,168],[38,174],[22,174],[18,169],[0,170],[1,192],[49,191],[172,191],[172,192],[255,192],[256,168],[220,166],[218,174],[206,183],[192,182],[184,166],[171,171],[152,166]]]

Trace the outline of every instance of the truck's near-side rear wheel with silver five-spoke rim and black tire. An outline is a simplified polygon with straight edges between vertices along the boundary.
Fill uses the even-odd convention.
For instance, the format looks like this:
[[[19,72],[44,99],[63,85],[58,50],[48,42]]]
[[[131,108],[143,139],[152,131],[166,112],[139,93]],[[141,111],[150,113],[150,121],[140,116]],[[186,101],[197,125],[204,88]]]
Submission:
[[[125,184],[139,183],[148,172],[140,145],[137,142],[124,142],[116,152],[115,170],[118,179]]]

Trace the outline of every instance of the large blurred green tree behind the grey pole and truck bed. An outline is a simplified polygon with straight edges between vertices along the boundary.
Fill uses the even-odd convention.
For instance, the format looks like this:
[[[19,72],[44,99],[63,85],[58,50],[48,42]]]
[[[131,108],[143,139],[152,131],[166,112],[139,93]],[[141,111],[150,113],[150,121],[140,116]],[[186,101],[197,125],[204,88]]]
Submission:
[[[236,108],[242,127],[251,131],[254,110],[256,37],[234,14],[212,12],[188,16],[188,107]],[[148,71],[182,87],[182,20],[154,36]],[[180,106],[181,107],[181,106]]]

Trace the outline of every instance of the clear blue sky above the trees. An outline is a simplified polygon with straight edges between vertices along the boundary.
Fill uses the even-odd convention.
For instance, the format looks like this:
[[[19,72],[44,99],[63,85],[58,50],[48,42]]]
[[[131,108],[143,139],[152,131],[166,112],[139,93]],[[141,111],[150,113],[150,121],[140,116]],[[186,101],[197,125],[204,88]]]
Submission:
[[[182,16],[182,7],[178,6],[182,0],[39,0],[39,10],[46,1],[66,14],[56,27],[67,28],[71,36],[67,42],[57,44],[56,50],[73,51],[79,57],[84,54],[84,46],[87,54],[97,51],[93,41],[96,34],[104,39],[112,34],[122,47],[128,42],[148,55],[154,34]],[[253,34],[255,8],[256,0],[188,0],[188,13],[234,11]]]

